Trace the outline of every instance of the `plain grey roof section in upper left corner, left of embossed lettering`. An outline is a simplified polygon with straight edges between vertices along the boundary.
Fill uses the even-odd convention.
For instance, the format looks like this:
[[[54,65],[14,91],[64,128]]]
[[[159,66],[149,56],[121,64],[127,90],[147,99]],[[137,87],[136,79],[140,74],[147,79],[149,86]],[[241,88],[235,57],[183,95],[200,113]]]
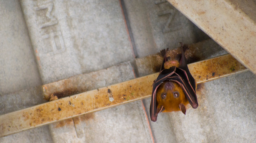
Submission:
[[[0,95],[41,85],[19,1],[0,1]]]

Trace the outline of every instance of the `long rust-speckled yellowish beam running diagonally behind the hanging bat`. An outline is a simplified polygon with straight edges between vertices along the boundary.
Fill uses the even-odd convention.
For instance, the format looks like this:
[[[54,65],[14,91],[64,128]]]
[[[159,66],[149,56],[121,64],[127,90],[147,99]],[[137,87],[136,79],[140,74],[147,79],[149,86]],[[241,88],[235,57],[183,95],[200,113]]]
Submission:
[[[189,64],[188,68],[197,83],[247,71],[229,54]],[[154,73],[1,115],[0,137],[150,97],[157,76]]]

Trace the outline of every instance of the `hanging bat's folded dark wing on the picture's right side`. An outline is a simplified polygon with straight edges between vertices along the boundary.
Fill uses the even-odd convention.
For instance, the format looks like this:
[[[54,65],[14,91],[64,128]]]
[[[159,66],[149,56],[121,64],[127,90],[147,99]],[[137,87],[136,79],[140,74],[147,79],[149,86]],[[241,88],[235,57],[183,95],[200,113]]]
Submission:
[[[194,109],[198,107],[196,92],[193,89],[193,87],[191,86],[190,82],[188,81],[185,71],[177,68],[175,74],[168,77],[166,80],[171,80],[171,81],[177,82],[183,89],[190,105]]]

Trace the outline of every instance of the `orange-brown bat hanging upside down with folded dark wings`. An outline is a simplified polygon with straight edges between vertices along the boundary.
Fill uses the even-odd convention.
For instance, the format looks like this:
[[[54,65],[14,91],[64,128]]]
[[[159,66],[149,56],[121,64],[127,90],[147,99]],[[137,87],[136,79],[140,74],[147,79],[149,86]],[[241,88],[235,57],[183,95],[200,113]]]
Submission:
[[[166,51],[162,50],[163,62],[160,73],[153,83],[150,118],[157,121],[160,112],[180,111],[186,114],[188,103],[196,109],[198,107],[195,79],[190,74],[185,51],[187,45],[181,43],[182,54],[178,54],[176,60],[166,57]]]

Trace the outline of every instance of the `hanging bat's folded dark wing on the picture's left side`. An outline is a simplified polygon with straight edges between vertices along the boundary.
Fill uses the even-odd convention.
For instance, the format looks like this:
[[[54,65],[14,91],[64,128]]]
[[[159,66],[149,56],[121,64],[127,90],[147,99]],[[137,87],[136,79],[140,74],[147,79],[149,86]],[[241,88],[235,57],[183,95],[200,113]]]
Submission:
[[[170,77],[173,73],[175,73],[176,67],[173,66],[170,69],[164,69],[160,71],[157,79],[153,83],[153,90],[151,96],[151,103],[150,103],[150,119],[152,121],[157,121],[157,101],[156,101],[156,92],[157,88],[165,81],[168,77]]]

